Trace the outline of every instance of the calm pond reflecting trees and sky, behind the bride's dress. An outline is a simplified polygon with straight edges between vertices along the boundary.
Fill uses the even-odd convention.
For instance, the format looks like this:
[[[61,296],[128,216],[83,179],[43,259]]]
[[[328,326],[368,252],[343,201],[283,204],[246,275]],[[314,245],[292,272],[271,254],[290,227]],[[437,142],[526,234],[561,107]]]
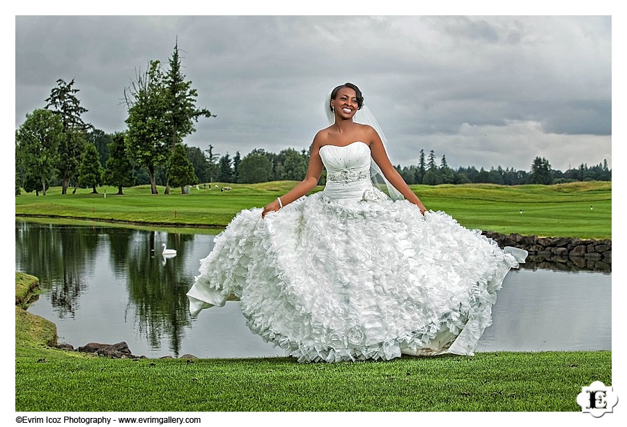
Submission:
[[[147,357],[284,355],[248,330],[237,302],[189,314],[207,233],[16,220],[15,270],[40,278],[29,312],[56,323],[59,343],[126,341]],[[164,259],[162,243],[176,257]],[[611,350],[611,283],[609,272],[512,270],[477,351]]]

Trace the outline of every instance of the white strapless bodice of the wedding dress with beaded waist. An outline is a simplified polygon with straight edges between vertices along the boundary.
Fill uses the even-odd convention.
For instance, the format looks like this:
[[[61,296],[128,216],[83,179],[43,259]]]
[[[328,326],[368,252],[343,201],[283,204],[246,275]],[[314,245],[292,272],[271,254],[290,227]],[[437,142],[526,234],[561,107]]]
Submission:
[[[366,143],[324,145],[320,158],[327,170],[326,200],[364,200],[364,193],[372,188],[370,147]]]

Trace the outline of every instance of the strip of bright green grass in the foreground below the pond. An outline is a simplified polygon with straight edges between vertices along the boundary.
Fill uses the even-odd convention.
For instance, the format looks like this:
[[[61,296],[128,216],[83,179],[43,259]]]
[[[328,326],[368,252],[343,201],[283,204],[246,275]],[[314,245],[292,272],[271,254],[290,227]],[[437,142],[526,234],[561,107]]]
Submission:
[[[609,351],[337,364],[284,357],[187,364],[56,353],[16,357],[17,411],[579,412],[582,386],[612,382]],[[37,362],[38,355],[46,361]]]

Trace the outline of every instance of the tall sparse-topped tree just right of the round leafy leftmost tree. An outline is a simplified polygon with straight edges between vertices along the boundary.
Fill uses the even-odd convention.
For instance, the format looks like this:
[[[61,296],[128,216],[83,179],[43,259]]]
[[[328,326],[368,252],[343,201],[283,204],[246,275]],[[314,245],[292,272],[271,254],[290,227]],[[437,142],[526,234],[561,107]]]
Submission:
[[[81,106],[76,96],[79,89],[72,88],[74,79],[66,83],[63,79],[56,81],[56,88],[45,99],[45,108],[59,115],[63,126],[63,140],[59,143],[58,164],[56,166],[61,178],[61,194],[67,194],[71,179],[76,179],[81,159],[81,149],[86,140],[85,133],[91,128],[81,115],[88,110]]]

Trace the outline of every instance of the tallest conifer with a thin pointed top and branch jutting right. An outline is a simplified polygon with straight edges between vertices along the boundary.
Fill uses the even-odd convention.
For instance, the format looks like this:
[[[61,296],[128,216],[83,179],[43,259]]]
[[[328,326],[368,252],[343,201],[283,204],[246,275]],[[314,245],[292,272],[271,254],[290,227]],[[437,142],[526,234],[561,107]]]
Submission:
[[[172,56],[169,58],[169,70],[164,80],[167,104],[164,120],[167,123],[170,150],[174,150],[177,144],[182,143],[185,136],[196,131],[194,122],[198,122],[199,117],[215,117],[207,108],[196,108],[198,93],[192,88],[192,81],[185,81],[185,74],[180,68],[178,42],[176,42]],[[168,190],[166,186],[165,193],[168,193]]]

